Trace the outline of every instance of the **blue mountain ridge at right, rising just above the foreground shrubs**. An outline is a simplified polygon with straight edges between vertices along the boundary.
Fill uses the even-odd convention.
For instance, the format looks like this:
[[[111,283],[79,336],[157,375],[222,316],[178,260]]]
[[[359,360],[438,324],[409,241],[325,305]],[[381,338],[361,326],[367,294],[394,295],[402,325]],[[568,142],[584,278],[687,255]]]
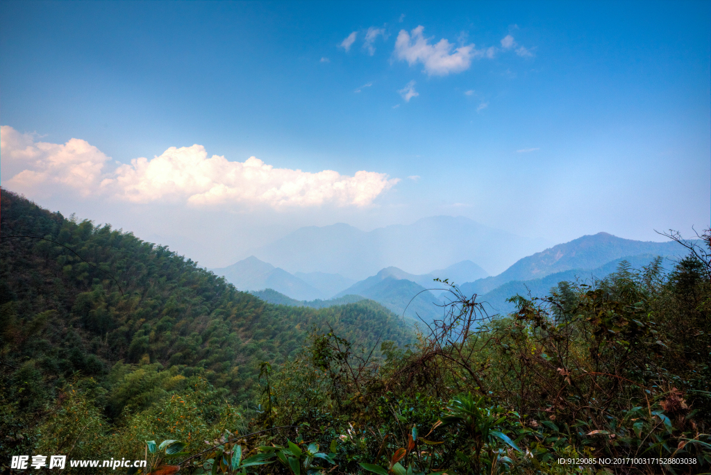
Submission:
[[[682,255],[684,252],[673,241],[636,241],[609,233],[584,235],[523,257],[501,274],[466,282],[459,288],[465,294],[483,295],[506,282],[541,279],[555,272],[572,269],[595,269],[622,257],[641,254]]]

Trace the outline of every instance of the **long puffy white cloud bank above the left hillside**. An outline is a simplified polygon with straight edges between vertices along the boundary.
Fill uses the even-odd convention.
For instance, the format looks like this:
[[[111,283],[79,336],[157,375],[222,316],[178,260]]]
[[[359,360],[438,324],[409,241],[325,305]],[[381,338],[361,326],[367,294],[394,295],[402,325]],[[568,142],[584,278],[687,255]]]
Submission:
[[[282,206],[367,206],[399,181],[373,171],[343,176],[336,171],[309,173],[275,169],[250,157],[228,161],[202,145],[171,147],[154,159],[139,158],[106,171],[109,157],[80,139],[66,144],[34,142],[15,129],[0,129],[2,176],[21,169],[3,185],[33,193],[77,191],[81,196],[109,196],[133,203],[184,201],[198,206],[229,203]]]

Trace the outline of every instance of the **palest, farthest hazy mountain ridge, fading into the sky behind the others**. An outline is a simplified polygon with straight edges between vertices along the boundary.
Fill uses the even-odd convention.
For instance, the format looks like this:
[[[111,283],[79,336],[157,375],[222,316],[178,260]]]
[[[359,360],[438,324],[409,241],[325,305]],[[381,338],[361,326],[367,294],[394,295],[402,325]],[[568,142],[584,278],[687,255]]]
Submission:
[[[289,272],[326,272],[360,280],[389,266],[424,274],[463,260],[501,272],[544,247],[543,240],[488,228],[469,218],[433,216],[369,232],[343,223],[299,228],[253,254]]]

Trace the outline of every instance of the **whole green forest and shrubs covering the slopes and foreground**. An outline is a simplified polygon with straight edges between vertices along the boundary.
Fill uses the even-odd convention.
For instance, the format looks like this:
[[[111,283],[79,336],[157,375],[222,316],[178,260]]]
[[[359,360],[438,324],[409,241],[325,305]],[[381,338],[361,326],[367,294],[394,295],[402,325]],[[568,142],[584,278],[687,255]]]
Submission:
[[[0,200],[4,473],[36,454],[147,462],[78,474],[711,472],[711,231],[672,272],[622,262],[508,315],[452,286],[415,327],[370,300],[269,304]]]

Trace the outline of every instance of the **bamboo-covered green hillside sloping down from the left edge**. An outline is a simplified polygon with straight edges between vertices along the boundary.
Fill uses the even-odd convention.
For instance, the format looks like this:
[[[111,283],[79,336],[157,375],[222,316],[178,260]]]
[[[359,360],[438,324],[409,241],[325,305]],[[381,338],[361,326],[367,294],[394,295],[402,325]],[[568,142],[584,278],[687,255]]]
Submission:
[[[85,378],[101,388],[108,417],[149,407],[190,378],[239,404],[255,397],[260,363],[293,356],[314,329],[370,346],[413,338],[375,302],[267,304],[166,247],[4,190],[0,218],[2,434],[41,422]],[[0,452],[26,442],[3,439]]]

